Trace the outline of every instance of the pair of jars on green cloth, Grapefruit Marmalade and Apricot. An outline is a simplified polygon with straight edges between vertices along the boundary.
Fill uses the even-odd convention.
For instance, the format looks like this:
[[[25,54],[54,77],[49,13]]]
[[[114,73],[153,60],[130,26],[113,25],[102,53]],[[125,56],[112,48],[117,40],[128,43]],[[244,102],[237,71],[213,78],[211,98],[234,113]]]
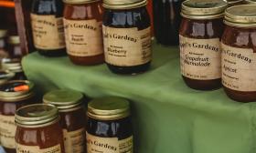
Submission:
[[[180,65],[187,86],[212,90],[222,82],[230,98],[255,101],[256,5],[187,0],[181,15]]]

